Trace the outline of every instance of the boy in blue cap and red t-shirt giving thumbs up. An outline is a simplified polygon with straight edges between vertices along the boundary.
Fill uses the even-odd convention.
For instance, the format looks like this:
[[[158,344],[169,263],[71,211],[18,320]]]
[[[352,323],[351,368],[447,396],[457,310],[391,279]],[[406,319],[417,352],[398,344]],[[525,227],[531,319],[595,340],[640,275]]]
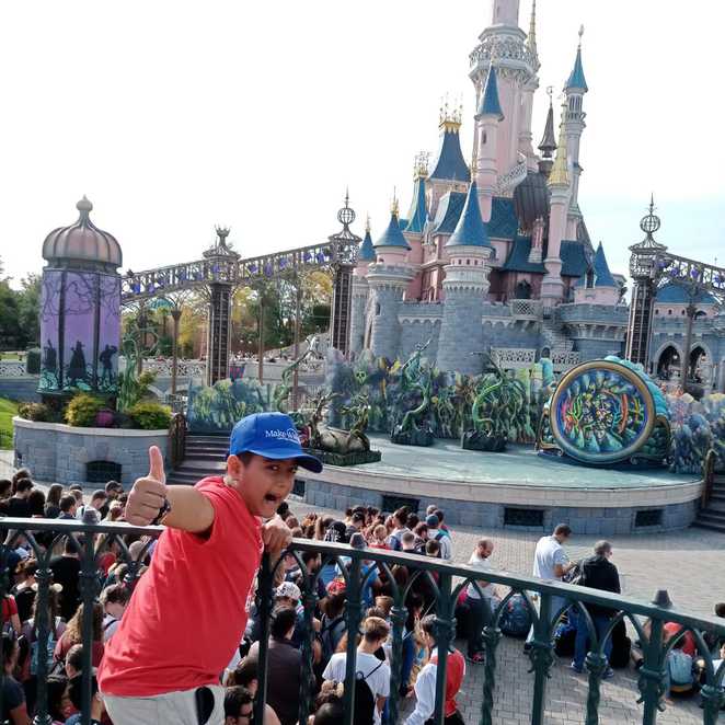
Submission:
[[[322,463],[283,413],[242,418],[226,474],[193,487],[168,486],[161,451],[149,457],[126,520],[166,529],[106,645],[99,686],[115,725],[222,725],[219,675],[246,626],[262,552],[278,556],[290,542],[277,507],[298,467],[319,473]]]

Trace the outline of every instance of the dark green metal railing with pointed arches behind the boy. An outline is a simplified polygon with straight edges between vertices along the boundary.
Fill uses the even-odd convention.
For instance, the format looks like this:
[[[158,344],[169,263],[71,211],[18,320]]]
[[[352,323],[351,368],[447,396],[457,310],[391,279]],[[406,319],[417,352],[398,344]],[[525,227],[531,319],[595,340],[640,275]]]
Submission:
[[[125,582],[133,587],[139,576],[139,568],[146,557],[148,548],[153,539],[163,531],[162,527],[131,527],[126,523],[102,523],[90,525],[72,520],[58,519],[0,519],[0,532],[4,544],[0,548],[0,565],[2,566],[2,582],[0,595],[4,595],[10,585],[7,571],[8,555],[12,548],[20,542],[33,552],[38,562],[37,571],[37,617],[36,634],[38,651],[45,652],[49,636],[49,622],[47,615],[48,590],[51,584],[51,571],[49,567],[54,550],[66,539],[72,541],[73,550],[80,557],[80,601],[84,610],[89,611],[96,600],[101,588],[99,576],[99,559],[112,544],[116,542],[119,546],[119,557],[128,563],[128,572]],[[48,538],[50,537],[51,538]],[[129,540],[145,538],[146,545],[131,560],[129,553]],[[45,541],[45,545],[38,543],[38,539]],[[399,552],[353,549],[345,544],[327,543],[308,539],[295,539],[288,553],[294,556],[302,574],[301,591],[304,621],[307,623],[308,636],[302,642],[302,677],[300,679],[299,722],[307,723],[311,709],[312,692],[310,682],[313,672],[313,648],[314,628],[312,626],[315,607],[318,603],[318,578],[322,568],[313,573],[302,561],[304,552],[314,552],[321,556],[321,567],[326,565],[336,566],[336,575],[345,582],[345,621],[347,632],[358,632],[362,621],[362,592],[371,577],[382,576],[390,586],[390,595],[393,606],[390,612],[392,622],[392,647],[391,647],[391,688],[388,703],[388,720],[391,725],[399,722],[401,711],[400,678],[402,670],[403,628],[407,617],[406,597],[411,587],[418,582],[425,583],[426,590],[430,592],[431,612],[436,617],[436,640],[438,645],[438,679],[436,682],[436,707],[434,722],[437,725],[444,723],[444,702],[446,692],[446,664],[449,645],[454,638],[456,632],[456,601],[464,586],[473,584],[479,588],[477,579],[485,576],[485,580],[494,585],[507,587],[508,591],[495,610],[485,612],[483,626],[484,645],[484,677],[483,699],[481,705],[480,722],[491,725],[493,718],[494,693],[497,678],[497,648],[502,641],[499,623],[507,603],[515,595],[522,595],[527,609],[532,620],[533,638],[529,657],[531,660],[531,672],[533,674],[533,694],[531,703],[532,725],[542,725],[544,722],[546,683],[550,670],[554,661],[553,632],[556,622],[569,608],[577,613],[580,622],[586,624],[591,642],[590,651],[586,657],[588,669],[588,691],[586,700],[586,724],[596,725],[600,722],[599,702],[601,698],[601,680],[608,661],[605,656],[606,643],[611,638],[613,629],[622,621],[629,623],[642,645],[643,664],[638,670],[637,688],[642,703],[642,722],[644,725],[654,725],[657,714],[663,707],[663,699],[666,692],[667,681],[667,655],[677,643],[690,632],[699,657],[703,660],[702,687],[700,697],[703,705],[703,723],[715,725],[720,709],[725,704],[725,691],[723,677],[725,675],[725,663],[715,668],[716,657],[710,652],[705,642],[705,634],[716,637],[725,637],[725,623],[712,617],[699,617],[682,612],[670,607],[657,606],[637,601],[629,597],[612,595],[605,591],[577,587],[555,582],[543,582],[532,577],[514,575],[507,572],[485,572],[473,569],[469,566],[456,565],[440,560],[403,554]],[[261,622],[261,634],[258,641],[258,677],[260,686],[257,700],[255,702],[255,720],[263,722],[263,707],[267,692],[267,659],[268,659],[268,634],[269,621],[273,612],[274,583],[278,580],[280,566],[284,557],[276,564],[269,561],[265,554],[257,576],[256,606]],[[212,562],[209,563],[214,565]],[[405,568],[407,578],[396,576],[395,572]],[[404,584],[402,583],[404,580]],[[194,586],[193,582],[187,586]],[[537,605],[534,605],[534,599]],[[563,603],[562,603],[563,602]],[[617,613],[611,618],[606,633],[600,638],[596,626],[585,605],[599,605],[607,607]],[[243,606],[243,603],[242,603]],[[555,611],[554,611],[555,610]],[[83,618],[82,637],[83,647],[83,709],[82,723],[90,722],[91,703],[91,642],[92,621],[90,617]],[[645,621],[647,620],[647,624]],[[675,622],[681,625],[679,633],[667,638],[665,636],[665,624]],[[356,638],[347,638],[346,658],[346,684],[345,698],[345,723],[352,725],[355,712],[355,653]],[[43,657],[37,660],[37,705],[34,723],[46,723],[47,721],[47,692],[45,679],[47,668]],[[1,698],[1,688],[0,688]],[[0,701],[0,709],[2,702]]]

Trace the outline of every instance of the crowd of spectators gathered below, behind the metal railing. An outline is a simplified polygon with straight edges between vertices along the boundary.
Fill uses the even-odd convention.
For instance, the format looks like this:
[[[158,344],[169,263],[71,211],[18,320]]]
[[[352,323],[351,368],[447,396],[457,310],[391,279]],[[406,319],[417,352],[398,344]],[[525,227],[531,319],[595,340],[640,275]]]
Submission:
[[[30,473],[24,470],[12,480],[0,481],[2,516],[77,519],[84,522],[124,521],[126,500],[123,486],[114,481],[94,492],[88,503],[84,503],[80,486],[64,488],[54,484],[44,492],[33,484]],[[425,515],[407,507],[385,515],[373,507],[358,506],[348,509],[340,519],[314,513],[298,519],[287,503],[281,503],[277,513],[297,538],[349,543],[356,549],[367,546],[437,560],[453,557],[453,540],[445,513],[436,506],[430,506]],[[597,542],[590,556],[574,562],[569,561],[565,551],[571,536],[569,527],[561,525],[551,536],[542,537],[534,554],[534,576],[619,592],[619,573],[611,561],[612,544]],[[82,540],[65,539],[58,543],[54,534],[44,532],[36,532],[35,540],[46,551],[54,549],[49,563],[53,579],[47,596],[48,642],[41,652],[36,625],[38,561],[27,542],[20,538],[7,554],[13,586],[2,602],[2,717],[13,725],[31,722],[37,702],[38,663],[45,659],[51,722],[54,725],[74,724],[81,707],[84,623],[90,618],[91,664],[96,668],[103,659],[106,644],[123,620],[135,583],[129,576],[128,563],[122,556],[118,541],[99,549],[99,597],[96,603],[85,611],[81,601],[78,545]],[[125,536],[123,540],[131,559],[140,560],[138,574],[142,577],[154,555],[156,542],[139,536]],[[483,628],[490,612],[505,594],[486,580],[494,550],[495,542],[491,538],[476,542],[468,564],[480,578],[463,587],[457,602],[458,635],[467,641],[467,656],[453,646],[447,653],[445,715],[448,725],[464,722],[457,705],[457,695],[465,676],[465,660],[471,665],[484,661]],[[389,572],[372,560],[362,560],[361,563],[362,617],[355,633],[356,661],[353,669],[356,725],[391,723],[389,699],[393,682],[398,684],[401,702],[407,703],[402,718],[406,725],[424,725],[434,714],[438,665],[436,575],[415,576],[415,560],[410,562],[410,565],[401,563],[391,566]],[[253,722],[253,703],[260,683],[260,641],[265,629],[268,631],[265,724],[296,725],[301,692],[310,693],[308,725],[343,723],[349,633],[346,619],[348,585],[341,567],[348,565],[349,559],[344,556],[323,563],[314,551],[304,551],[299,556],[285,555],[277,567],[268,628],[264,626],[253,607],[238,651],[226,670],[219,674],[219,681],[226,688],[226,725]],[[303,606],[303,591],[310,575],[317,575],[317,597],[311,618]],[[392,610],[400,590],[407,590],[407,594],[404,600],[402,657],[394,661]],[[567,603],[564,599],[553,601],[552,618],[566,610]],[[586,605],[586,609],[597,636],[602,636],[615,612],[596,605]],[[717,605],[715,612],[718,617],[725,617],[725,603]],[[523,629],[519,622],[518,631],[515,628],[517,614],[526,622]],[[517,596],[508,601],[502,629],[526,636],[530,621],[522,598]],[[506,629],[507,622],[509,629]],[[590,644],[589,629],[583,614],[575,613],[571,608],[554,628],[554,636],[557,654],[569,655],[573,670],[582,672]],[[667,624],[665,636],[680,637],[667,655],[667,697],[681,693],[687,688],[697,689],[703,671],[699,657],[703,653],[698,652],[690,633],[681,636],[677,624]],[[531,626],[525,647],[531,646],[533,640]],[[605,679],[613,675],[610,661],[615,655],[613,646],[619,646],[617,642],[612,635],[603,651],[608,660],[602,670]],[[707,646],[720,660],[725,657],[725,641],[722,637],[713,635],[707,640]],[[309,660],[306,654],[309,654]],[[626,661],[630,659],[636,663],[636,646],[630,651],[628,645]],[[716,661],[716,666],[718,664]],[[307,682],[303,681],[306,678]],[[92,717],[99,723],[111,722],[104,701],[97,693],[95,678]]]

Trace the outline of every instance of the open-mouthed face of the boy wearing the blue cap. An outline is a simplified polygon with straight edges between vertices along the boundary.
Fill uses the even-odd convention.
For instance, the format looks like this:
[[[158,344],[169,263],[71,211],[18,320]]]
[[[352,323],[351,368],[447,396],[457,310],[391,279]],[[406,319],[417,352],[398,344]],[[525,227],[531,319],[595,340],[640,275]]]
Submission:
[[[271,518],[292,491],[298,463],[295,458],[275,460],[252,456],[244,464],[240,457],[227,459],[228,479],[246,504],[252,516]]]

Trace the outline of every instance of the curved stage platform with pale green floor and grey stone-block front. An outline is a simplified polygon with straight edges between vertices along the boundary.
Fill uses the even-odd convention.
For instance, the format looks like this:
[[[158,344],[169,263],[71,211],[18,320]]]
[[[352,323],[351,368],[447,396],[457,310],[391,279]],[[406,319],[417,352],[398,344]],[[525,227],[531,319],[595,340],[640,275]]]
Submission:
[[[586,468],[544,459],[532,446],[487,453],[462,450],[453,440],[429,448],[396,446],[380,435],[370,440],[382,451],[380,462],[300,471],[298,493],[338,510],[357,504],[392,510],[408,503],[425,511],[437,504],[450,523],[548,530],[568,521],[575,530],[606,536],[687,527],[702,495],[697,475]]]

